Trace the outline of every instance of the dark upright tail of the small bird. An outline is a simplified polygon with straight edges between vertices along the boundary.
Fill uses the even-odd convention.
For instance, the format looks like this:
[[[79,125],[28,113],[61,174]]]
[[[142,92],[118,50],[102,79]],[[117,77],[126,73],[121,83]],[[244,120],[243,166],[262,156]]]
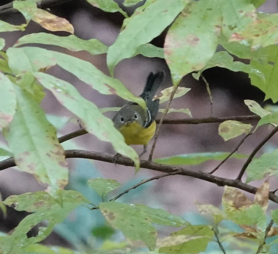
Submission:
[[[164,72],[151,72],[147,78],[147,83],[144,87],[143,93],[140,95],[145,101],[152,101],[158,87],[160,86],[164,77]]]

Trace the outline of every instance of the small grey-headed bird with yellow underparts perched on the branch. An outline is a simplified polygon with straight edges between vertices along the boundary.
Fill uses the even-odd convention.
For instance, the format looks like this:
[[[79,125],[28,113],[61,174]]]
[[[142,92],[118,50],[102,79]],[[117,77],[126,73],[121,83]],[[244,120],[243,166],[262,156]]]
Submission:
[[[159,99],[153,97],[164,77],[164,72],[151,72],[147,78],[143,93],[140,95],[146,102],[146,109],[138,103],[130,102],[123,106],[112,121],[115,128],[124,136],[127,145],[144,145],[141,157],[147,152],[147,144],[155,133],[155,117],[158,113]]]

